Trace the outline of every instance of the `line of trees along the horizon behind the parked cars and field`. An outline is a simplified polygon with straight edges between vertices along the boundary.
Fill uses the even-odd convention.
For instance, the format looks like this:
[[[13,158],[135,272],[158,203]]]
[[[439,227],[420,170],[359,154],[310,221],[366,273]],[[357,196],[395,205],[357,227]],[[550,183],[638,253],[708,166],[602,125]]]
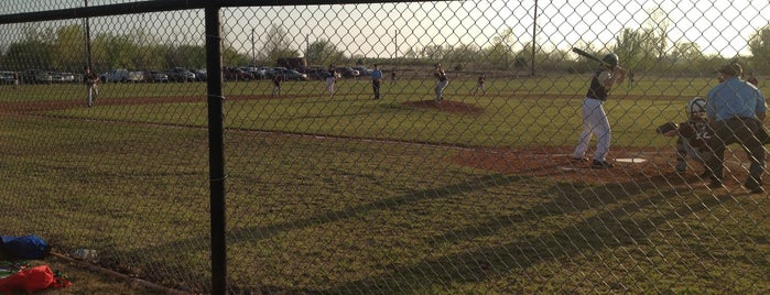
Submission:
[[[654,18],[652,18],[654,20]],[[612,44],[578,44],[588,52],[601,55],[615,52],[625,67],[644,73],[674,73],[698,75],[712,72],[715,64],[733,59],[740,62],[747,73],[770,68],[770,25],[757,30],[749,44],[750,56],[723,57],[706,55],[692,42],[669,44],[668,26],[660,22],[651,26],[625,29]],[[291,47],[295,36],[273,24],[265,32],[267,41],[258,52],[245,53],[224,42],[223,63],[226,66],[272,66],[279,57],[302,57],[300,50]],[[204,68],[206,50],[203,45],[148,44],[153,40],[147,32],[126,34],[100,33],[91,40],[91,59],[97,70],[108,68],[165,69],[175,66]],[[28,29],[23,37],[2,48],[0,69],[23,70],[31,68],[80,72],[87,61],[85,31],[72,24],[57,29]],[[512,45],[519,44],[520,50]],[[523,45],[522,45],[523,44]],[[534,46],[534,48],[533,48]],[[600,48],[595,48],[600,46]],[[241,48],[242,50],[242,48]],[[386,64],[430,65],[441,62],[456,70],[527,70],[535,65],[539,72],[567,72],[589,69],[589,61],[570,54],[568,50],[547,50],[532,42],[521,42],[512,29],[505,29],[494,36],[487,46],[471,44],[436,44],[409,48],[398,58],[368,58],[346,55],[335,44],[319,40],[306,45],[304,57],[312,65],[328,64]],[[574,58],[573,58],[574,57]],[[532,63],[534,62],[534,63]],[[762,73],[759,73],[762,74]]]

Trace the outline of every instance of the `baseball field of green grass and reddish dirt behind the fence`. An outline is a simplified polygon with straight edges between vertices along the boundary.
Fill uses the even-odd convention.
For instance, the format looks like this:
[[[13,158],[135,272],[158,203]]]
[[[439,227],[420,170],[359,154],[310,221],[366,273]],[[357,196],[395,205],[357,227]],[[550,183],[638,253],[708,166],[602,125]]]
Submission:
[[[696,163],[674,173],[674,139],[654,132],[714,79],[615,89],[609,156],[632,161],[610,170],[567,159],[587,79],[491,77],[484,96],[451,80],[441,105],[430,79],[383,83],[380,100],[366,79],[334,97],[321,81],[286,81],[280,97],[269,81],[226,84],[231,291],[770,292],[770,204],[740,187],[742,151],[712,190]],[[80,85],[7,88],[2,229],[205,293],[205,84],[101,85],[93,108]]]

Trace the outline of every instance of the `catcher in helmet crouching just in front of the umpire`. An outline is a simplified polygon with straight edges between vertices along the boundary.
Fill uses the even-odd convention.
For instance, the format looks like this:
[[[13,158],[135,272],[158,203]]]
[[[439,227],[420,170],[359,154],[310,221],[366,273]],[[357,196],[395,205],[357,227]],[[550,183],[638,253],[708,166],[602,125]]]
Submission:
[[[704,165],[709,154],[706,141],[714,135],[714,130],[708,125],[708,117],[706,116],[706,99],[694,97],[687,102],[685,111],[687,112],[686,122],[679,124],[668,122],[657,129],[658,133],[665,136],[679,136],[676,139],[676,173],[687,171],[687,156]]]

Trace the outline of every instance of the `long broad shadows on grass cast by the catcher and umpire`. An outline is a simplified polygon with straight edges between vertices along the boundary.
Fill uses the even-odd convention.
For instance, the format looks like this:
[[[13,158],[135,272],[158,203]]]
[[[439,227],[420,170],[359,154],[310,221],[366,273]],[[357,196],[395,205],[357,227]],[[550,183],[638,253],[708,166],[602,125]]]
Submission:
[[[660,204],[671,205],[669,198],[679,196],[679,193],[674,189],[659,192],[640,201],[623,201],[623,204],[619,203],[622,197],[616,197],[632,196],[652,188],[657,188],[657,186],[654,184],[640,186],[637,183],[584,188],[576,188],[572,184],[556,185],[551,190],[554,190],[560,197],[530,211],[510,215],[507,218],[490,218],[474,227],[425,239],[453,243],[492,236],[502,228],[524,221],[543,220],[570,214],[579,215],[585,210],[593,210],[596,214],[581,218],[577,223],[572,226],[555,228],[555,231],[524,234],[524,238],[513,238],[505,244],[393,267],[380,276],[348,282],[333,289],[311,293],[388,294],[393,292],[393,287],[398,287],[399,293],[420,294],[426,289],[435,291],[447,286],[481,282],[509,274],[511,270],[525,270],[541,263],[581,259],[604,249],[646,244],[649,242],[649,234],[654,232],[659,226],[731,199],[728,194],[704,199],[695,198],[690,201],[683,200],[681,205],[670,208],[670,211],[665,214],[646,214],[646,217],[635,219],[632,215],[641,210],[655,210]],[[611,209],[606,210],[610,207]],[[518,287],[521,288],[520,292],[525,292],[525,286]]]

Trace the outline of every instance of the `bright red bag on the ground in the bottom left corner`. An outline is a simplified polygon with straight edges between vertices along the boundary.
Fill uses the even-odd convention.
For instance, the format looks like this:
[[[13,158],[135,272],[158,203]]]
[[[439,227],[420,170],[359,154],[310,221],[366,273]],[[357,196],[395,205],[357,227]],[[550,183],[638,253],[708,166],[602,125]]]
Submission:
[[[0,292],[11,294],[14,291],[32,293],[48,287],[66,287],[72,285],[62,276],[54,276],[48,265],[23,269],[9,277],[0,278]]]

